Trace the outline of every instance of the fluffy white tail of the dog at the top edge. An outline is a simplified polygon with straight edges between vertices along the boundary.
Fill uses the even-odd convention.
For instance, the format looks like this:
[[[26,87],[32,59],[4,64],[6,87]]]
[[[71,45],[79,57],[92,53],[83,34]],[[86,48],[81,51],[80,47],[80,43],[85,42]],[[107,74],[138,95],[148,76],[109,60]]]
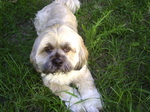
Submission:
[[[55,3],[62,3],[66,5],[73,13],[80,8],[79,0],[55,0]]]

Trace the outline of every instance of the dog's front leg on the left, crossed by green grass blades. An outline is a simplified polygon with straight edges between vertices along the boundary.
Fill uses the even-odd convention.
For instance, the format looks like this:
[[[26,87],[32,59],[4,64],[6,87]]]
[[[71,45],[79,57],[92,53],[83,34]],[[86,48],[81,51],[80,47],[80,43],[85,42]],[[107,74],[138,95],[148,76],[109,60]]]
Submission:
[[[59,98],[65,101],[66,106],[73,112],[81,112],[84,110],[83,104],[78,103],[81,98],[75,88],[68,85],[49,84],[49,88],[52,92],[59,96]]]

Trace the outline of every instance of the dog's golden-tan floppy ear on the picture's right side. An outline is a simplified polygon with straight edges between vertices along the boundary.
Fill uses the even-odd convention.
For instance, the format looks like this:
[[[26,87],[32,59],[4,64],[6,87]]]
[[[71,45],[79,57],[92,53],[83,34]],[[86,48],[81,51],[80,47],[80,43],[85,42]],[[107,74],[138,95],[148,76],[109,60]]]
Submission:
[[[87,51],[87,48],[85,47],[84,43],[81,42],[79,51],[79,61],[75,66],[75,70],[80,70],[87,63],[88,55],[89,53]]]

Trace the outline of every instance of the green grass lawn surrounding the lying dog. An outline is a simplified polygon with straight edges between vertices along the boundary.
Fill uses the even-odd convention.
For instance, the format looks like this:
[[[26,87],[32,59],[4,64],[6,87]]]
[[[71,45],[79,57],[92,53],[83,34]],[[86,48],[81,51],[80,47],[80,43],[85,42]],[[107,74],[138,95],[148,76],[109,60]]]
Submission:
[[[48,3],[0,0],[1,112],[69,112],[29,63],[32,20]],[[86,0],[76,16],[104,112],[149,112],[149,0]]]

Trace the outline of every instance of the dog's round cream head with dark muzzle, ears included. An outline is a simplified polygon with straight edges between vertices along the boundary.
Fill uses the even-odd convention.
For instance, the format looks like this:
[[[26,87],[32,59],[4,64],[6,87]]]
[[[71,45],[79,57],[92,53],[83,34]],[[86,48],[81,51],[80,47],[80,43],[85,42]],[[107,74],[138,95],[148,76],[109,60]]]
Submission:
[[[45,74],[80,70],[87,58],[82,38],[67,26],[53,26],[42,32],[30,55],[36,70]]]

